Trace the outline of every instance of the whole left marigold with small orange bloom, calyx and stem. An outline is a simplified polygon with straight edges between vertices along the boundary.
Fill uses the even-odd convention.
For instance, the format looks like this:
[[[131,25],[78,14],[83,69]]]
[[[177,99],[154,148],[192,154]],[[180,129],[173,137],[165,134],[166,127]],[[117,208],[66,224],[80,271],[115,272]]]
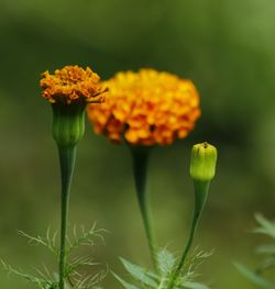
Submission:
[[[85,113],[89,102],[101,102],[102,88],[99,76],[89,67],[65,66],[54,75],[42,74],[40,86],[53,109],[52,135],[58,147],[62,182],[62,219],[58,288],[67,288],[67,219],[70,184],[73,179],[77,144],[85,133]]]

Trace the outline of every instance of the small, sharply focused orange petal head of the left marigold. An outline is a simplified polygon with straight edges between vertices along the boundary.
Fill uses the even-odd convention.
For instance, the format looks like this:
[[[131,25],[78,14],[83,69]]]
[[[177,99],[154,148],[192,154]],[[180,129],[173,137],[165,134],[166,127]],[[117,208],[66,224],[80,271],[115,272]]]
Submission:
[[[56,69],[54,75],[43,73],[40,86],[44,89],[42,96],[51,103],[102,102],[100,95],[106,90],[99,81],[100,77],[89,67],[75,65]]]

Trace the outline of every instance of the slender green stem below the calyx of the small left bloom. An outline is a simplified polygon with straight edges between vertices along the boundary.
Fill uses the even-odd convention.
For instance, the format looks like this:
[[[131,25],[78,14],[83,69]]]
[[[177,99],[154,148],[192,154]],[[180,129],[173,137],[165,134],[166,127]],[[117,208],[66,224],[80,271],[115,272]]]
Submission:
[[[61,177],[62,177],[62,223],[61,223],[61,253],[59,253],[59,289],[64,289],[66,264],[66,235],[68,219],[68,201],[72,177],[76,159],[76,146],[58,147]]]

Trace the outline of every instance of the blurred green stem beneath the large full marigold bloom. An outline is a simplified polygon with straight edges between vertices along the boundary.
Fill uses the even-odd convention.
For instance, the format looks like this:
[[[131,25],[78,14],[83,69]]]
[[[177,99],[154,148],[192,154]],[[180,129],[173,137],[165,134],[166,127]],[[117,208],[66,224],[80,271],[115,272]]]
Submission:
[[[157,270],[157,260],[155,253],[154,236],[151,227],[151,216],[148,200],[146,193],[146,176],[147,176],[147,163],[150,156],[148,147],[130,147],[132,153],[133,174],[135,181],[135,190],[138,194],[139,205],[142,214],[142,220],[146,233],[146,238],[151,252],[152,262],[155,270]]]

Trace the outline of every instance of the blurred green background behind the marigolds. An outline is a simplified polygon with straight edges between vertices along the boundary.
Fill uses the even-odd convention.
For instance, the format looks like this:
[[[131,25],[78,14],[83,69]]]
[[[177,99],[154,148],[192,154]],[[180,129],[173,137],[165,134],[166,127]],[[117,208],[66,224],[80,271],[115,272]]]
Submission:
[[[59,224],[59,170],[52,112],[40,97],[40,74],[67,64],[91,66],[103,79],[118,70],[154,67],[190,78],[201,96],[196,130],[155,148],[148,188],[160,244],[180,252],[193,189],[189,151],[219,148],[218,174],[196,237],[215,248],[201,267],[211,288],[253,289],[234,269],[253,267],[261,237],[253,213],[275,218],[275,2],[272,0],[0,0],[0,257],[33,271],[46,249],[26,245],[22,230],[45,235]],[[124,276],[118,256],[150,264],[127,147],[87,125],[79,144],[70,225],[109,231],[96,260]],[[125,276],[127,278],[127,276]],[[109,275],[105,288],[121,288]],[[0,288],[33,288],[0,270]]]

